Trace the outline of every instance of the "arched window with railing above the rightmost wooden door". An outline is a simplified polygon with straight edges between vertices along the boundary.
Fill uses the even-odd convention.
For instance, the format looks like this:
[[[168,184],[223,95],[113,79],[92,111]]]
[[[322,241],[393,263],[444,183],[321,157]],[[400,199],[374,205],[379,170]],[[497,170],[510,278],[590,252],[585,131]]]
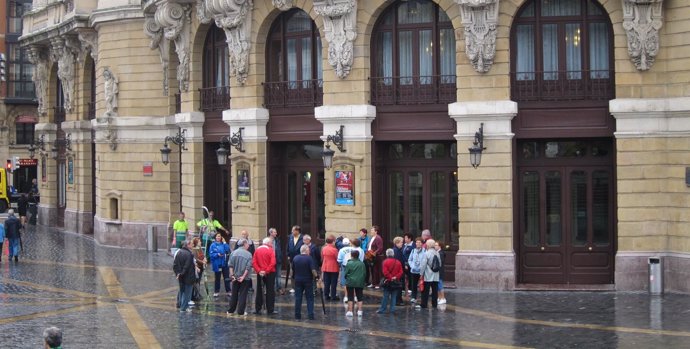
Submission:
[[[594,1],[533,0],[512,31],[514,100],[613,98],[611,25]]]

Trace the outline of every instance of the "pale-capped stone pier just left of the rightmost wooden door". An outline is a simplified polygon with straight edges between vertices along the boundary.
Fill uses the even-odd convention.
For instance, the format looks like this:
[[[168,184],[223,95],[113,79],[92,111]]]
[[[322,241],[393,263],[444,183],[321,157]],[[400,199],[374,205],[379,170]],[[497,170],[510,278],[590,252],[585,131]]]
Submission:
[[[513,250],[512,101],[457,102],[448,106],[457,123],[460,250],[455,281],[463,288],[510,290],[515,286]],[[468,148],[484,123],[481,165]]]

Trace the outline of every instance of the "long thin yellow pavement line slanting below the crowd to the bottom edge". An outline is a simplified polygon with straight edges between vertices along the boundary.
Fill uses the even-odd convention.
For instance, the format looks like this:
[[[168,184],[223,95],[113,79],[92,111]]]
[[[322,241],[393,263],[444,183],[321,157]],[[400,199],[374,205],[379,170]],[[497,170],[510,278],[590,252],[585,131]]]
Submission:
[[[168,310],[168,311],[177,311],[176,308],[174,308],[172,306],[155,305],[155,304],[151,304],[151,303],[142,303],[141,306],[149,307],[149,308],[155,308],[155,309],[161,309],[161,310]],[[199,313],[193,312],[191,315],[198,315],[198,314]],[[282,326],[288,326],[288,327],[301,327],[301,328],[307,328],[307,329],[318,329],[318,330],[322,330],[322,331],[345,332],[345,331],[350,330],[350,328],[342,327],[342,326],[325,325],[323,323],[314,323],[314,322],[282,320],[282,319],[275,319],[275,318],[264,317],[264,316],[246,316],[246,317],[245,316],[238,316],[238,315],[229,316],[229,315],[225,314],[225,312],[214,312],[214,311],[204,311],[202,314],[211,315],[211,316],[215,316],[215,317],[222,317],[222,318],[226,318],[226,319],[240,320],[240,321],[253,321],[253,322],[261,322],[261,323],[266,323],[266,324],[282,325]],[[356,320],[353,320],[353,321],[356,321]],[[394,332],[385,332],[385,331],[369,331],[369,332],[361,331],[360,333],[362,335],[371,335],[371,336],[382,337],[382,338],[399,338],[399,339],[414,340],[414,341],[420,341],[420,342],[442,343],[442,344],[455,345],[455,346],[459,346],[459,347],[487,348],[487,349],[524,349],[524,348],[526,348],[526,347],[516,347],[516,346],[511,346],[511,345],[465,341],[465,340],[461,340],[461,339],[452,339],[452,338],[405,335],[405,334],[394,333]]]

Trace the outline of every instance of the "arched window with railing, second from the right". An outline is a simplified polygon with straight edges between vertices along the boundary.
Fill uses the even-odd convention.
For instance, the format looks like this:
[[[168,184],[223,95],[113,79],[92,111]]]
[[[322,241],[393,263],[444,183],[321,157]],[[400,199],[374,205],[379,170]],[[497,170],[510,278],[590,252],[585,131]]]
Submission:
[[[398,1],[372,35],[374,105],[446,104],[456,100],[455,32],[431,0]]]

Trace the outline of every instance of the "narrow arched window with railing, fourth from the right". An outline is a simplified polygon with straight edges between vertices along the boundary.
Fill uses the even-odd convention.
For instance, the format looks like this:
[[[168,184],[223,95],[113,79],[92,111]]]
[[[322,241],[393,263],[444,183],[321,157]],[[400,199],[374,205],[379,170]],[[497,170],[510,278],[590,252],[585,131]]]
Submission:
[[[201,111],[230,109],[228,44],[225,41],[225,33],[215,24],[206,34],[202,69],[204,87],[199,89]],[[181,101],[178,101],[177,95],[175,98],[177,109],[181,106]]]

